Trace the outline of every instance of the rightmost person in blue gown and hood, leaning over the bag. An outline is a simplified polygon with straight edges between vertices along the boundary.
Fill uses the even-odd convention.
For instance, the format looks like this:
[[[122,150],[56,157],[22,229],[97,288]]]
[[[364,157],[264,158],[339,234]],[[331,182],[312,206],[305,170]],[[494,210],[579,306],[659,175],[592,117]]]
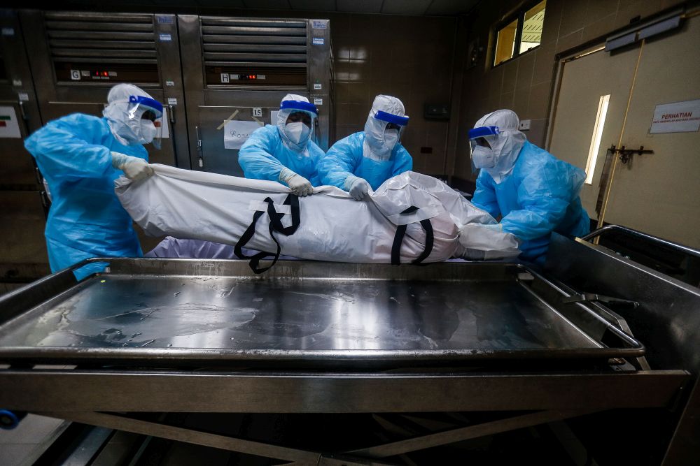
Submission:
[[[469,131],[472,164],[481,170],[472,203],[502,217],[486,227],[516,235],[521,259],[542,263],[552,231],[570,238],[589,233],[579,197],[586,174],[529,143],[519,125],[512,110],[496,110]]]

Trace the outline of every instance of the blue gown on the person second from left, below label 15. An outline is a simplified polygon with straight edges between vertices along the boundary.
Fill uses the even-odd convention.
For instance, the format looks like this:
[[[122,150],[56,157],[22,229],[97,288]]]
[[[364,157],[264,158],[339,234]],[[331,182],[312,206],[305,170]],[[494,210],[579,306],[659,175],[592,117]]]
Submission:
[[[316,165],[323,157],[323,150],[309,140],[307,151],[296,152],[287,147],[277,126],[267,124],[253,131],[238,152],[238,163],[246,178],[279,182],[279,173],[289,168],[311,182],[321,186]]]

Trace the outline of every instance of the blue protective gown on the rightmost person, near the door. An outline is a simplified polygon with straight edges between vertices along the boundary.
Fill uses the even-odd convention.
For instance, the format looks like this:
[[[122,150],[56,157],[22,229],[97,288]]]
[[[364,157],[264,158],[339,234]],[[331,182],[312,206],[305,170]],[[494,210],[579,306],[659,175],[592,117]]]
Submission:
[[[481,170],[472,203],[493,217],[503,217],[503,231],[523,241],[521,259],[543,263],[552,231],[569,238],[590,231],[578,195],[585,178],[580,168],[526,141],[502,182],[497,184]]]

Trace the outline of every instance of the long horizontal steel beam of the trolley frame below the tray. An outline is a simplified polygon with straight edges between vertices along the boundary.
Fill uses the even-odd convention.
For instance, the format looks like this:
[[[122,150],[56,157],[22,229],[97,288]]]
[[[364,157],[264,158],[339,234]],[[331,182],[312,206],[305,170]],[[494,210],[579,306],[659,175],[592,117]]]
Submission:
[[[684,370],[283,372],[0,370],[0,405],[30,412],[375,413],[669,407]]]

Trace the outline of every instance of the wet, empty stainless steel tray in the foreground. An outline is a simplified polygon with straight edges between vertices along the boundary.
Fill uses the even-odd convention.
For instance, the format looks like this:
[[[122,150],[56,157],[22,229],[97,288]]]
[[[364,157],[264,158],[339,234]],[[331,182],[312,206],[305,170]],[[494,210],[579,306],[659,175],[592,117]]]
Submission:
[[[406,367],[644,354],[594,308],[552,299],[567,295],[522,265],[279,261],[260,276],[246,261],[102,261],[107,271],[80,283],[64,270],[0,298],[0,363]]]

